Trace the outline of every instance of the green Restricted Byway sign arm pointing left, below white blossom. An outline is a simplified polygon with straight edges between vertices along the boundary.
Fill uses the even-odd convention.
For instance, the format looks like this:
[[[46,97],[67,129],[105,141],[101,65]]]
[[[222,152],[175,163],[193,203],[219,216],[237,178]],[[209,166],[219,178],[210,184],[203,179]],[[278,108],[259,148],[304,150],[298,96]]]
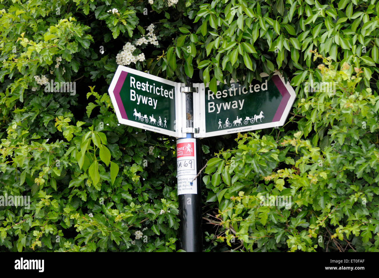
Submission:
[[[175,137],[178,84],[118,66],[108,92],[119,123]]]

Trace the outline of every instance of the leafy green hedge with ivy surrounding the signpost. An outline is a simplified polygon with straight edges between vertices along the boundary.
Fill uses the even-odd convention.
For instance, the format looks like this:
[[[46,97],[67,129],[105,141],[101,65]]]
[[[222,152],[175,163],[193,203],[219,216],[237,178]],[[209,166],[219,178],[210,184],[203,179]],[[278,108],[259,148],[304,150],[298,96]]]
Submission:
[[[279,129],[200,141],[204,251],[378,251],[376,1],[14,0],[0,10],[1,194],[31,197],[30,209],[0,207],[1,251],[176,249],[175,140],[119,126],[107,93],[117,53],[151,23],[159,45],[138,46],[146,60],[128,66],[213,91],[277,69],[297,94]],[[35,75],[76,82],[76,94],[47,93]],[[311,81],[336,90],[305,90]],[[261,206],[266,193],[292,206]]]

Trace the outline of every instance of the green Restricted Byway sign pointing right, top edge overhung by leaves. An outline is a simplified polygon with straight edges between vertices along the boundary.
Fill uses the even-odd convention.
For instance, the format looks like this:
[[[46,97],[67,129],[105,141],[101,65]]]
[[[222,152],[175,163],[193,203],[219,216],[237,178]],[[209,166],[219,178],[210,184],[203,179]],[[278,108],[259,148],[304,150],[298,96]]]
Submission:
[[[200,132],[195,137],[283,126],[296,94],[279,72],[271,79],[265,73],[261,77],[262,82],[253,80],[247,87],[239,82],[231,82],[230,87],[218,82],[216,93],[202,87],[194,99],[198,104],[195,114],[200,115]]]

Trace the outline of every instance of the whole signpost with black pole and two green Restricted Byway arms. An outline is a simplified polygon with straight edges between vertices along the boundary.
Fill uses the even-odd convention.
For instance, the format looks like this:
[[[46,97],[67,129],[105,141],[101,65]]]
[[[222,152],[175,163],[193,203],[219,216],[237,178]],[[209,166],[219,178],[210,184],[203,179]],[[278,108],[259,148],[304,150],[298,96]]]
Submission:
[[[203,83],[185,87],[125,66],[118,66],[108,89],[119,123],[177,138],[177,188],[180,244],[201,251],[199,143],[204,138],[282,126],[295,99],[279,72],[244,87],[232,80],[213,93]],[[187,118],[189,117],[189,118]]]

